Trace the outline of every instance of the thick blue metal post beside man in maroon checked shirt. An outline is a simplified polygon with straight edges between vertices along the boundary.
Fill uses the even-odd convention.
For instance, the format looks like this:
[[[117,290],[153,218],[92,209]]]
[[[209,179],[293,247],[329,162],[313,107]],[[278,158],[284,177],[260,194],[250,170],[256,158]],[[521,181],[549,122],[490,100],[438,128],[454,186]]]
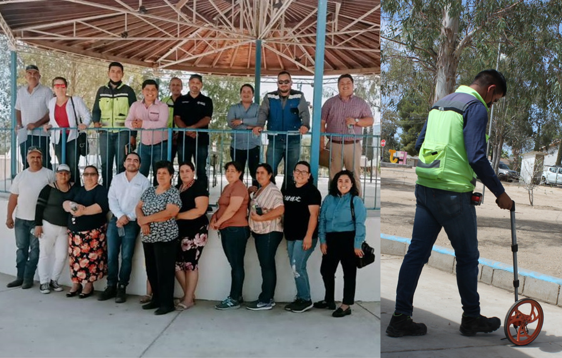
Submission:
[[[320,160],[320,114],[322,108],[322,78],[324,75],[324,45],[326,40],[326,16],[328,0],[318,0],[316,20],[316,56],[314,58],[314,98],[312,100],[312,142],[310,144],[310,171],[318,184]]]

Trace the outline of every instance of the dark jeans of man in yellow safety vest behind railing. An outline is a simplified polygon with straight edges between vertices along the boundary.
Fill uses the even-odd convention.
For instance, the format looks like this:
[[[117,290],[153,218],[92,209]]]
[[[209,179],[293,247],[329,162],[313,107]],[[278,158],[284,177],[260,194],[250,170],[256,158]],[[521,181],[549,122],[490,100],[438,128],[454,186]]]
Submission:
[[[129,144],[131,137],[130,130],[120,130],[119,132],[99,131],[99,156],[102,162],[103,186],[109,189],[113,179],[113,164],[117,174],[125,171],[123,162],[125,161],[125,147]]]

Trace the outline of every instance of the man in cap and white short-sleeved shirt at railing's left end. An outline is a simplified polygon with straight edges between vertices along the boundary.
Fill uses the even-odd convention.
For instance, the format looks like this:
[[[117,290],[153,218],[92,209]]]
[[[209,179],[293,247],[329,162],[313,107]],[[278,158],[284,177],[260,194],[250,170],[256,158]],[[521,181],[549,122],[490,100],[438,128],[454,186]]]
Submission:
[[[42,85],[39,80],[41,74],[35,65],[25,67],[25,81],[27,85],[17,89],[16,96],[16,130],[18,130],[18,143],[20,144],[21,161],[24,169],[29,165],[26,162],[28,148],[36,146],[44,153],[43,166],[52,168],[49,154],[49,133],[42,130],[43,124],[49,122],[49,101],[53,98],[50,88]],[[25,132],[27,130],[27,132]]]

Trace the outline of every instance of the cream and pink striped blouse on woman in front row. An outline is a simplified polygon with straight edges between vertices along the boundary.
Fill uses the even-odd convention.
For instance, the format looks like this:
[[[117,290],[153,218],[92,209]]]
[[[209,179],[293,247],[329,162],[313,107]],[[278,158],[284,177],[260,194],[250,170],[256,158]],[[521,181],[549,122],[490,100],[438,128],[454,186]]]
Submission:
[[[257,194],[257,193],[256,193]],[[250,213],[256,212],[256,206],[261,207],[263,214],[271,211],[279,206],[283,206],[283,194],[273,183],[261,189],[260,194],[252,197],[250,202]],[[248,219],[250,223],[250,230],[256,234],[268,234],[270,232],[278,231],[283,232],[283,225],[281,224],[281,216],[277,219],[268,221],[253,221],[252,216]]]

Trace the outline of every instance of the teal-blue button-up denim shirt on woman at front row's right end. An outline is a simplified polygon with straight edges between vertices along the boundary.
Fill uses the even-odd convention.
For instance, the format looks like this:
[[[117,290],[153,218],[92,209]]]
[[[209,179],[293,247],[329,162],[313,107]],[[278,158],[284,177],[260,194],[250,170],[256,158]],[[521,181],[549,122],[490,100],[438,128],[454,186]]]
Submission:
[[[326,243],[326,233],[355,230],[354,246],[355,248],[361,248],[361,243],[365,241],[365,219],[367,210],[361,198],[354,196],[355,225],[353,225],[350,202],[350,193],[342,197],[328,194],[328,196],[324,198],[320,209],[320,223],[318,227],[320,243]]]

